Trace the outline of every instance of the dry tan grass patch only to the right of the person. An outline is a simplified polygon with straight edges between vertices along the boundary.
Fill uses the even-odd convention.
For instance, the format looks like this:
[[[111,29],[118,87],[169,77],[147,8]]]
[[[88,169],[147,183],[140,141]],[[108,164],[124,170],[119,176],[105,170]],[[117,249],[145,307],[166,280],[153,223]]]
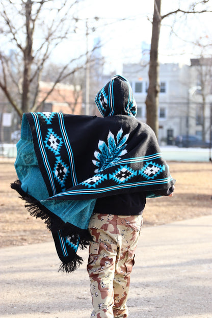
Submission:
[[[176,188],[173,197],[148,199],[146,224],[159,225],[212,214],[212,165],[169,163]]]

